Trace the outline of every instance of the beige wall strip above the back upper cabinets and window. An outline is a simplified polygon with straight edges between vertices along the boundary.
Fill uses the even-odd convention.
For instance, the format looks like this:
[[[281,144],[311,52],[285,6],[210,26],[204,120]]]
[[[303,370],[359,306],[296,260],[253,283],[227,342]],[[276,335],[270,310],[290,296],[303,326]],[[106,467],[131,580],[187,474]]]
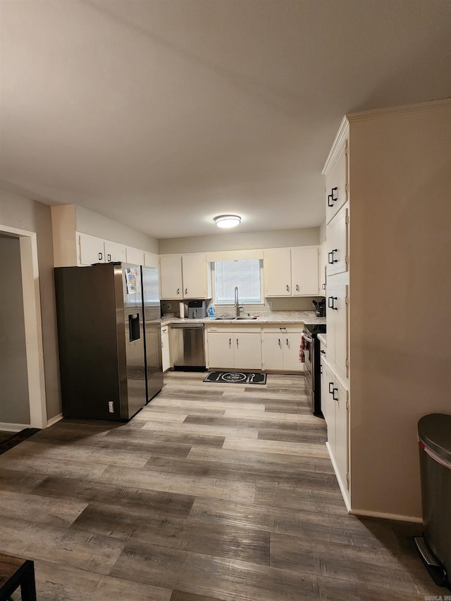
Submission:
[[[247,234],[220,232],[214,236],[159,240],[159,254],[279,248],[311,244],[319,244],[319,228],[273,230]]]

